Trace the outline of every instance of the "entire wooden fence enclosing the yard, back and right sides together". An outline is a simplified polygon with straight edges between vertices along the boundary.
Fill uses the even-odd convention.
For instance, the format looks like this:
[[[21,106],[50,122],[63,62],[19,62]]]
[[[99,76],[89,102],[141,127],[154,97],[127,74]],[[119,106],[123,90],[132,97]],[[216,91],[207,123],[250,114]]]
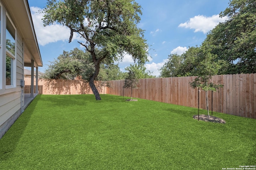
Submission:
[[[195,77],[140,79],[132,96],[188,107],[198,107],[198,90],[190,87]],[[208,92],[209,109],[213,111],[256,119],[256,74],[233,74],[213,76],[212,81],[223,84],[217,92]],[[30,93],[30,78],[25,78],[26,93]],[[110,81],[112,88],[104,88],[100,82],[96,86],[100,94],[131,96],[130,89],[123,89],[124,80]],[[34,85],[36,83],[34,82]],[[93,94],[84,80],[39,79],[40,94]],[[35,89],[35,88],[34,88]],[[200,108],[206,109],[206,95],[200,92]]]

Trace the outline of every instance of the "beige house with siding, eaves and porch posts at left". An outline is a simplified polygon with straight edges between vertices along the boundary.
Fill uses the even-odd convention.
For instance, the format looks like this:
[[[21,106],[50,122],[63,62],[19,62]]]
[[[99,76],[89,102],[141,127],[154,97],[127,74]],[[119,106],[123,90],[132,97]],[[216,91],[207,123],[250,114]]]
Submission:
[[[27,106],[24,67],[32,68],[31,75],[36,68],[37,86],[42,65],[28,0],[0,0],[0,138]],[[31,77],[30,100],[38,93]]]

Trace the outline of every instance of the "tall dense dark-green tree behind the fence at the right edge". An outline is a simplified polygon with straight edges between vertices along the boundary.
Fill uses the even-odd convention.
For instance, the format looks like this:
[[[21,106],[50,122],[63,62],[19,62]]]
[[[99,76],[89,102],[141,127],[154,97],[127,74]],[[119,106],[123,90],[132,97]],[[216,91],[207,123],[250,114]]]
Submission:
[[[207,35],[211,53],[228,62],[222,74],[256,72],[256,2],[232,0],[221,17],[228,17]]]

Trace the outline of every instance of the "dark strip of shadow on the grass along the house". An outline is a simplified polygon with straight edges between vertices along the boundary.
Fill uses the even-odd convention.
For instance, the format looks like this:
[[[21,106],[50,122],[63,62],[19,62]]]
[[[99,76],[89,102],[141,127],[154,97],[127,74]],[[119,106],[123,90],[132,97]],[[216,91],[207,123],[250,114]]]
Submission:
[[[41,95],[36,96],[26,110],[20,115],[20,117],[18,117],[10,129],[0,139],[0,164],[2,161],[8,160],[9,156],[15,152],[20,137],[22,137],[22,134],[25,131],[40,98]]]

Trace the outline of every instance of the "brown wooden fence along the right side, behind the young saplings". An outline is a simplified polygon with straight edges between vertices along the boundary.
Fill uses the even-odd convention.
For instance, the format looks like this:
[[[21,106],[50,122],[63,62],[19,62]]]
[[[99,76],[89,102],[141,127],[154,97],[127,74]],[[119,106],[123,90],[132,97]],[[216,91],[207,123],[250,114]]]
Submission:
[[[157,102],[188,107],[198,107],[198,90],[189,82],[195,77],[140,79],[132,96]],[[256,74],[233,74],[213,76],[212,81],[223,84],[217,92],[208,92],[209,109],[213,111],[256,119]],[[124,80],[110,81],[108,94],[131,96],[130,89],[123,89]],[[200,108],[206,109],[206,94],[200,91]]]

